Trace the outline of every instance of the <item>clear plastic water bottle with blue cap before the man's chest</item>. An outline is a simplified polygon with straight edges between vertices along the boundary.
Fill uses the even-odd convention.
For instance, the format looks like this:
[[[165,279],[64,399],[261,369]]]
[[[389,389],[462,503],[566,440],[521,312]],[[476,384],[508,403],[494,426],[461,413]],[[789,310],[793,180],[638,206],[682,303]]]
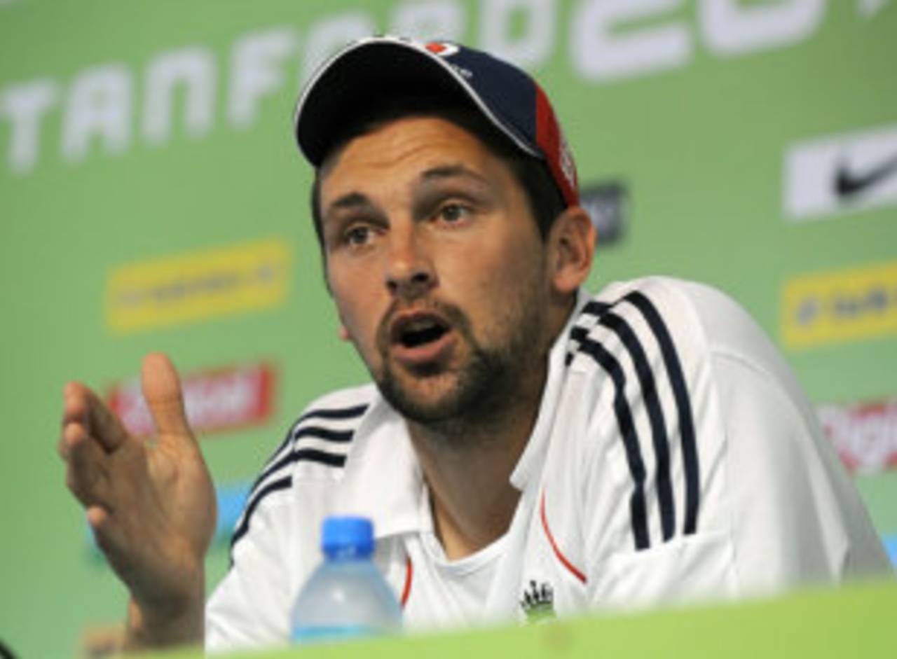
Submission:
[[[402,609],[371,562],[373,525],[364,517],[327,517],[321,527],[324,562],[309,577],[292,610],[294,643],[318,643],[397,632]]]

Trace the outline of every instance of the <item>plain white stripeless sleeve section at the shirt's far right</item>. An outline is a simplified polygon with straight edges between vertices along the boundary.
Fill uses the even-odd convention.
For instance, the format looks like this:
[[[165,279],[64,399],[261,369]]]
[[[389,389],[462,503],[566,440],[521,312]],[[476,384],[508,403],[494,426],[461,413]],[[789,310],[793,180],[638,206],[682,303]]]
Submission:
[[[718,355],[714,369],[742,590],[766,594],[887,574],[866,508],[803,397],[736,354]]]

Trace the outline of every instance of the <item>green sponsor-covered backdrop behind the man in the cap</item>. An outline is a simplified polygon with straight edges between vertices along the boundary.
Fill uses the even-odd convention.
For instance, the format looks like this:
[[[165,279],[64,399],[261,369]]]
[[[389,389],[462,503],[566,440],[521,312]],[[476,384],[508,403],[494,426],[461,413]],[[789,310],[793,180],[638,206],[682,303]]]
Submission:
[[[591,287],[663,273],[739,299],[850,450],[884,455],[857,481],[897,536],[897,4],[0,0],[0,638],[20,655],[82,655],[124,612],[56,455],[66,380],[120,391],[161,350],[201,405],[265,365],[240,391],[266,405],[203,439],[224,538],[304,404],[364,379],[291,117],[323,56],[384,31],[536,74],[605,222]],[[210,585],[226,562],[220,540]]]

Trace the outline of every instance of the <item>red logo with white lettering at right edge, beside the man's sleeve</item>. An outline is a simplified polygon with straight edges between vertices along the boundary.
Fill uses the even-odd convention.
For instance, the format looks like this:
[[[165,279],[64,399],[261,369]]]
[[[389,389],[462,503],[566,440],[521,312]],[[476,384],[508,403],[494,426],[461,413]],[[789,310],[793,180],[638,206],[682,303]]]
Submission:
[[[876,473],[897,468],[897,398],[820,405],[818,412],[848,469]]]

